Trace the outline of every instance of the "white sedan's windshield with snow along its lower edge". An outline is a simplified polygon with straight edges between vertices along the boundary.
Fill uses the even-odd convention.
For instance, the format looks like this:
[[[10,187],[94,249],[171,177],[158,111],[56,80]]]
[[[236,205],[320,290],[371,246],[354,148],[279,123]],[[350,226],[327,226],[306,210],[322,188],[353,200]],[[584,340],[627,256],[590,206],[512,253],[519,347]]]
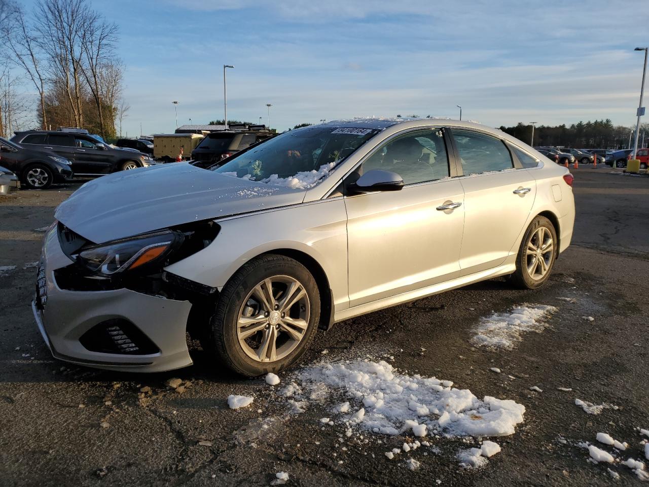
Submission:
[[[377,132],[331,126],[289,131],[234,156],[212,171],[306,189],[314,186]]]

